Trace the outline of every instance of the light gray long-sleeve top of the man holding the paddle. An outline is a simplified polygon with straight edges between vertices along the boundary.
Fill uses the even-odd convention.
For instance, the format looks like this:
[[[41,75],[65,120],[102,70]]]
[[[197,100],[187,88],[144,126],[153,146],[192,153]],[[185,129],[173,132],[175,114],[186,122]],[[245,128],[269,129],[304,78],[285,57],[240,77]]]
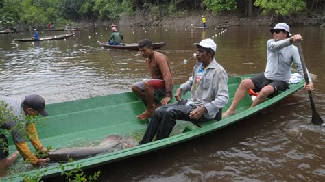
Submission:
[[[304,75],[298,48],[291,44],[290,38],[278,41],[270,39],[267,41],[267,63],[264,73],[267,79],[289,82],[293,63],[298,73]],[[311,77],[309,77],[309,81],[311,81]]]

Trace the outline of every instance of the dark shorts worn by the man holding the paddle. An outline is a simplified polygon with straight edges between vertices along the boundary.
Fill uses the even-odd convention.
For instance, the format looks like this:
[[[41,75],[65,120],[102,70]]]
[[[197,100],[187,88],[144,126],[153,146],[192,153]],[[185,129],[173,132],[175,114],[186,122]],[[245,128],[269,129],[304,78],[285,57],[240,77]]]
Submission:
[[[272,86],[274,88],[274,91],[286,90],[289,87],[289,83],[287,83],[286,81],[274,81],[265,78],[264,73],[256,75],[250,79],[254,83],[255,92],[259,92],[260,90],[262,90],[263,87],[268,85]]]

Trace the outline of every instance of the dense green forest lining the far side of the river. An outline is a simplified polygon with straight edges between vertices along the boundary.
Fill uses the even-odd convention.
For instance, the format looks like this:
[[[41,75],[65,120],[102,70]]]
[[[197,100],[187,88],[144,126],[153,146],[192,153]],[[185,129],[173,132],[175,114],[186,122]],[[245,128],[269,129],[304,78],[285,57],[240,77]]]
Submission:
[[[0,0],[0,28],[63,27],[79,21],[118,21],[150,16],[154,21],[191,14],[324,16],[325,0]]]

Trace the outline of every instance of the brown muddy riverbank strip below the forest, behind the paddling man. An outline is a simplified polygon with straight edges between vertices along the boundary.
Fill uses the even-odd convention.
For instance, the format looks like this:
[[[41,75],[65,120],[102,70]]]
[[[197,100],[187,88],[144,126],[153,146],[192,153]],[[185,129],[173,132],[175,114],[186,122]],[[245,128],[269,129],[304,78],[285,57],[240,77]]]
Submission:
[[[189,15],[178,18],[164,18],[161,21],[154,21],[149,16],[121,16],[118,23],[121,27],[141,27],[141,26],[163,26],[163,27],[189,27],[192,24],[194,26],[201,25],[201,16]],[[273,18],[272,16],[252,16],[245,17],[237,14],[227,15],[213,15],[206,14],[207,25],[212,27],[218,26],[271,26],[278,22],[286,22],[291,26],[296,27],[325,27],[325,15],[317,15],[314,17],[306,16],[282,16],[281,18]]]

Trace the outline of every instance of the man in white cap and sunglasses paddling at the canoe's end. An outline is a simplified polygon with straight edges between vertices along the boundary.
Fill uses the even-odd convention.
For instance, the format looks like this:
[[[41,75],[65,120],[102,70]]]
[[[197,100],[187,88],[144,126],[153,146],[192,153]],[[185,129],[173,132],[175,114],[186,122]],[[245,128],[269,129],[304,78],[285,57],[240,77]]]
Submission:
[[[293,46],[293,43],[302,41],[302,36],[300,34],[292,36],[289,25],[286,23],[278,23],[269,31],[273,34],[273,38],[267,41],[265,72],[241,81],[234,95],[234,100],[228,110],[222,114],[223,117],[236,114],[236,107],[241,99],[244,98],[247,90],[254,89],[257,92],[259,91],[250,107],[254,107],[267,100],[267,96],[276,91],[286,90],[289,86],[291,65],[293,63],[298,73],[303,75],[298,49]],[[313,83],[310,77],[309,81],[310,83],[305,88],[311,91],[313,90]]]

